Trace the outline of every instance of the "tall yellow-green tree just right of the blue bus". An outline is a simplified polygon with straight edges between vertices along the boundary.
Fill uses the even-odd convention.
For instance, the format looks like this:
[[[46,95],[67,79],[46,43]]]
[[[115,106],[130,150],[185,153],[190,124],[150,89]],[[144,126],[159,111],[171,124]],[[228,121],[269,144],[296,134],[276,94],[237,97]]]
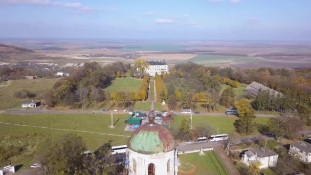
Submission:
[[[238,119],[235,121],[234,126],[238,133],[250,134],[254,130],[254,110],[247,100],[240,100],[235,103],[238,113]]]

